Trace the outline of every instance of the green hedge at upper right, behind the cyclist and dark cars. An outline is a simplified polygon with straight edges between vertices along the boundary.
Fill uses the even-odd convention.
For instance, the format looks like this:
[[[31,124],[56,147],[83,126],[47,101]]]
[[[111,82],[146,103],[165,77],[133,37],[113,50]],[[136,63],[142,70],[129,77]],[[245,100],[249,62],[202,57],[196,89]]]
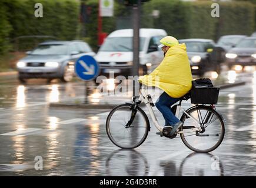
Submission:
[[[212,1],[183,2],[151,0],[143,6],[142,26],[161,28],[177,38],[209,38],[222,35],[251,35],[255,28],[255,9],[250,2],[218,2],[220,18],[211,17]],[[151,13],[159,10],[159,18]]]

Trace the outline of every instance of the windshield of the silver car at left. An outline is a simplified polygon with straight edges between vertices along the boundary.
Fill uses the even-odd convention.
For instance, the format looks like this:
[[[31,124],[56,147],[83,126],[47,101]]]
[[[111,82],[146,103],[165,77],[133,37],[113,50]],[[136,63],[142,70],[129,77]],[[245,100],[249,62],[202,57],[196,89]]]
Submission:
[[[66,45],[39,45],[31,55],[66,55],[67,51]]]

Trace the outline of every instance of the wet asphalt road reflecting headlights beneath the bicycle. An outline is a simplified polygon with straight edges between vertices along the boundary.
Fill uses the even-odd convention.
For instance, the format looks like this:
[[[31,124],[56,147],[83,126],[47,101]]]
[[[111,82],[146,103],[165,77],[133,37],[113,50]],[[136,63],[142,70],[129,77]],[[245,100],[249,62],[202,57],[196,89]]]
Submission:
[[[227,120],[225,137],[207,154],[192,152],[180,138],[155,135],[152,122],[141,146],[121,150],[105,131],[109,110],[49,108],[50,102],[82,98],[81,82],[19,85],[14,76],[1,77],[0,175],[255,176],[256,72],[236,76],[247,84],[221,90],[217,111]],[[42,170],[35,169],[38,156]]]

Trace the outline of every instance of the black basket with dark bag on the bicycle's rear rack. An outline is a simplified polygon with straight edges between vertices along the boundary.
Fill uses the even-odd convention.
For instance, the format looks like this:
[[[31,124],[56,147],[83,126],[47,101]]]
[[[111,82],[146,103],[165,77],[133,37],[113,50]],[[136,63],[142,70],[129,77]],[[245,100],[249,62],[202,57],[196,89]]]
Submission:
[[[211,80],[201,78],[192,81],[191,103],[216,104],[218,102],[220,88],[214,88]]]

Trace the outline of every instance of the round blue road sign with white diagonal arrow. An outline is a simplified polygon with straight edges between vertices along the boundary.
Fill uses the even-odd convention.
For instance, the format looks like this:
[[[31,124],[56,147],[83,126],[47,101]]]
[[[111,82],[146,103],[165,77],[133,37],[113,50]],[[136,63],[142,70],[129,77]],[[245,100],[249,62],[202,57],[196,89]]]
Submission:
[[[91,80],[98,76],[99,66],[92,56],[84,55],[75,62],[75,73],[82,80]]]

